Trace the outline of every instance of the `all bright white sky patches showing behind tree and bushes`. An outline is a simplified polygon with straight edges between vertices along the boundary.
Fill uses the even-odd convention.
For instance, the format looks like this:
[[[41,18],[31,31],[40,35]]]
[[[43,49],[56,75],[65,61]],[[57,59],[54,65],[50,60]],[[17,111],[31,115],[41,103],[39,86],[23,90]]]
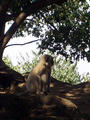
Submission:
[[[90,5],[90,0],[87,0],[87,1]],[[9,27],[10,25],[6,25],[6,31],[8,30]],[[36,39],[37,38],[32,37],[31,35],[26,37],[12,38],[8,44],[17,44],[17,43],[22,44],[22,43],[29,42]],[[21,56],[25,58],[25,61],[28,60],[26,53],[28,54],[28,56],[30,56],[29,60],[31,61],[34,57],[32,54],[32,51],[34,51],[35,53],[38,53],[36,43],[27,44],[24,46],[7,47],[5,48],[3,56],[4,57],[8,56],[12,64],[17,65],[18,62],[22,62]],[[77,68],[80,75],[86,74],[87,72],[90,73],[90,63],[88,63],[86,60],[80,60],[77,64]]]

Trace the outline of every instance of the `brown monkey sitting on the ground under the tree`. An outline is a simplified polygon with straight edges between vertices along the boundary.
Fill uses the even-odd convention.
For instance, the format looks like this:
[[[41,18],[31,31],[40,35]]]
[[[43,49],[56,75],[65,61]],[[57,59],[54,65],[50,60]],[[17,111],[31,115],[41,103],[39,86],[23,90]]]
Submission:
[[[47,94],[50,89],[51,68],[54,64],[53,57],[43,55],[39,63],[30,72],[27,81],[26,89],[31,93]]]

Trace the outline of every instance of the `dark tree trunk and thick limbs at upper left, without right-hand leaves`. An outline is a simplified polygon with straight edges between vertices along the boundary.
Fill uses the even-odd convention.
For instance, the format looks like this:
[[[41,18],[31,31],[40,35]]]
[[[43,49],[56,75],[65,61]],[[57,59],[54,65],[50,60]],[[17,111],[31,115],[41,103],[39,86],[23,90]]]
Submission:
[[[26,24],[25,19],[53,3],[60,4],[67,0],[1,0],[0,1],[0,64],[2,64],[3,51],[21,23]],[[13,21],[9,30],[5,33],[5,24]],[[25,20],[25,21],[24,21]],[[23,27],[21,27],[23,29]],[[20,30],[22,30],[20,29]],[[27,28],[26,28],[27,30]]]

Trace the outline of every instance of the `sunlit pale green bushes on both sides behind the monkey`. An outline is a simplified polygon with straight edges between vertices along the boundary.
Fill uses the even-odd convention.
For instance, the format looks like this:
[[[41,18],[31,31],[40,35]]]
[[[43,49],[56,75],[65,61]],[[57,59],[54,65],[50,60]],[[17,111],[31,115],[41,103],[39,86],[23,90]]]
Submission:
[[[8,59],[8,57],[5,57],[3,60],[4,62],[14,69],[17,72],[20,73],[27,73],[32,70],[32,68],[38,63],[40,57],[36,53],[34,53],[34,58],[31,62],[29,62],[29,59],[24,63],[19,63],[17,66],[13,66],[11,61]],[[52,55],[53,56],[53,55]],[[71,64],[70,59],[66,61],[61,56],[53,56],[54,57],[54,66],[52,68],[52,77],[54,77],[57,80],[71,83],[71,84],[78,84],[80,82],[86,82],[90,81],[90,74],[87,74],[85,76],[80,76],[77,72],[77,62]],[[24,58],[22,57],[22,60]]]

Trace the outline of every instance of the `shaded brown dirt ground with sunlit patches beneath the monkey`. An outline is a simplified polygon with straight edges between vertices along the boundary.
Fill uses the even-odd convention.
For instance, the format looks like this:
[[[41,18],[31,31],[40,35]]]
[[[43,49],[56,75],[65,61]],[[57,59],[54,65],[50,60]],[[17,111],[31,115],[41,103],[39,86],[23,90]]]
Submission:
[[[52,79],[48,95],[0,91],[0,120],[90,120],[90,83],[71,85]]]

